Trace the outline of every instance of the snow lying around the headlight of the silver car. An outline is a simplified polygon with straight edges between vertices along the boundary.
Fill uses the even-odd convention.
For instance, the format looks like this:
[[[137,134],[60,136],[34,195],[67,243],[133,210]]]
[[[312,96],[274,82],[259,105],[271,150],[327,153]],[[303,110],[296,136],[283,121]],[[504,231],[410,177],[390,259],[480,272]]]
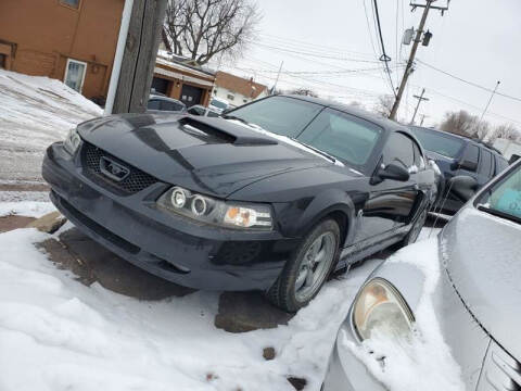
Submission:
[[[392,391],[465,390],[460,367],[443,339],[432,302],[441,274],[437,245],[437,238],[428,239],[387,260],[389,263],[415,265],[425,277],[422,297],[415,311],[416,332],[411,340],[392,340],[377,335],[364,341],[361,346],[345,340],[346,346]],[[385,357],[385,364],[374,360],[376,356]]]

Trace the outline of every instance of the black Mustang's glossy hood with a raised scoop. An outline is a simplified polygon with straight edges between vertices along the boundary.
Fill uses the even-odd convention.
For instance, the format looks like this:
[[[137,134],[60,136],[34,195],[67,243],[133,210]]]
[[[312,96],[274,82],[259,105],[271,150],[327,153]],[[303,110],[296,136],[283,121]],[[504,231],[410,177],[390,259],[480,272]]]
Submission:
[[[237,121],[126,114],[78,126],[81,138],[162,181],[227,198],[269,176],[333,163]]]

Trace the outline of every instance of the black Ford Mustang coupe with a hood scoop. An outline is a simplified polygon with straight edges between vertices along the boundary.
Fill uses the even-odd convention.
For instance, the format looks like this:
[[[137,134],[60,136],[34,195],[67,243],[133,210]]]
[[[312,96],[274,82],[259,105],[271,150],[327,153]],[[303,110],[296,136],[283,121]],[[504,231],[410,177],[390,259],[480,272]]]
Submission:
[[[183,286],[264,290],[287,311],[328,275],[414,242],[435,174],[399,125],[266,98],[223,118],[114,115],[49,147],[43,178],[94,240]]]

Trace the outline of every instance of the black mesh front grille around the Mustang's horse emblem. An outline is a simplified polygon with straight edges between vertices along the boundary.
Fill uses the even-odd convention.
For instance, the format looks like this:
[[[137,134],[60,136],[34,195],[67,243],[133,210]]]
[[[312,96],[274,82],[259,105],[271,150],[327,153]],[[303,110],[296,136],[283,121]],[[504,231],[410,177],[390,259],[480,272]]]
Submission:
[[[128,168],[130,173],[123,180],[114,180],[101,172],[100,159],[109,157],[117,164]],[[152,175],[143,173],[112,154],[92,146],[89,142],[84,142],[81,148],[81,165],[84,167],[84,175],[97,184],[107,188],[109,190],[119,194],[134,194],[141,191],[149,186],[157,182],[157,179]]]

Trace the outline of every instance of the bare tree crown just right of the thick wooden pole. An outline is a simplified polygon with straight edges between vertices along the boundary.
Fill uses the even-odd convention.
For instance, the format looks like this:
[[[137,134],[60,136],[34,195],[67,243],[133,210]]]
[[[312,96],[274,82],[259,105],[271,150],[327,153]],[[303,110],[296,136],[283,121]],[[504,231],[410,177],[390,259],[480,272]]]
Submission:
[[[203,65],[216,54],[240,55],[259,21],[252,0],[169,0],[165,31],[175,54]]]

